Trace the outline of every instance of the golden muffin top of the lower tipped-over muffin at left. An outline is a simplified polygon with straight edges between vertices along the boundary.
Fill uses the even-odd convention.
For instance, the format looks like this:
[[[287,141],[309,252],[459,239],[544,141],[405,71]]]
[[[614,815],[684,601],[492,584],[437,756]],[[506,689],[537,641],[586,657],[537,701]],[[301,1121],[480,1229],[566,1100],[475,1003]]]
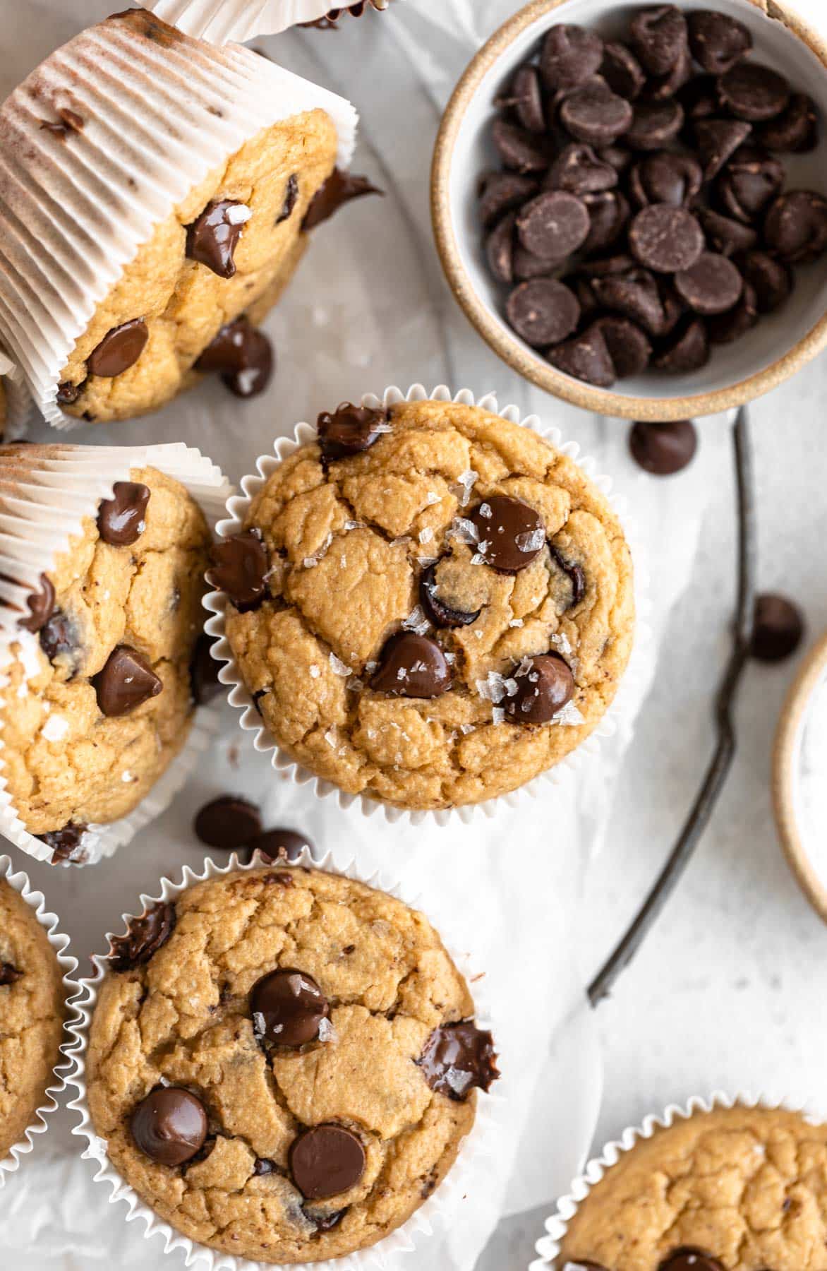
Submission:
[[[43,454],[0,447],[4,492]],[[133,469],[32,594],[0,698],[3,777],[53,846],[132,811],[183,745],[208,541],[179,482]]]

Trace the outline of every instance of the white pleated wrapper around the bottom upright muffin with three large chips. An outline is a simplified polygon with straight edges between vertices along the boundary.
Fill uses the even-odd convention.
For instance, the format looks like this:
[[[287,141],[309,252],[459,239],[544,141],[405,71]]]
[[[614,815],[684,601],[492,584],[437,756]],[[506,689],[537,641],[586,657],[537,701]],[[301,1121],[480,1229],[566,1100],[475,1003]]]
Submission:
[[[473,952],[475,938],[470,920],[467,918],[457,919],[454,910],[446,902],[440,902],[438,894],[436,892],[428,894],[423,899],[418,895],[410,895],[407,888],[400,886],[396,876],[387,871],[376,869],[373,873],[366,873],[360,869],[357,860],[348,855],[346,850],[326,852],[321,857],[314,857],[310,848],[302,848],[299,857],[285,863],[272,860],[260,852],[255,852],[253,859],[245,864],[239,862],[235,853],[232,853],[226,864],[219,864],[207,858],[201,871],[194,871],[189,866],[184,866],[180,882],[174,882],[171,878],[163,878],[159,894],[156,896],[142,895],[140,897],[144,906],[142,910],[138,910],[137,915],[124,914],[123,920],[127,923],[131,916],[140,916],[141,913],[146,913],[152,905],[175,901],[182,892],[205,880],[220,878],[234,871],[255,869],[260,866],[272,866],[278,869],[309,868],[339,874],[373,887],[376,891],[387,892],[387,895],[394,896],[412,909],[424,913],[442,939],[448,956],[454,960],[455,966],[471,989],[476,1026],[490,1030],[493,1033],[498,1064],[504,1075],[494,1083],[488,1093],[484,1091],[476,1092],[474,1125],[465,1139],[462,1139],[456,1160],[436,1191],[412,1214],[407,1223],[396,1228],[396,1230],[390,1232],[377,1244],[344,1257],[326,1258],[321,1262],[310,1263],[314,1267],[329,1268],[329,1271],[391,1271],[391,1268],[398,1266],[396,1258],[399,1254],[424,1252],[427,1238],[446,1230],[459,1204],[465,1197],[474,1195],[475,1178],[479,1178],[483,1171],[495,1168],[498,1141],[503,1134],[508,1113],[508,1073],[514,1070],[517,1057],[507,1054],[506,1038],[498,1033],[497,1023],[492,1018],[485,975],[480,971]],[[279,1268],[281,1271],[288,1271],[288,1267],[296,1263],[252,1262],[248,1258],[234,1257],[232,1254],[211,1249],[187,1235],[182,1235],[169,1223],[159,1218],[111,1164],[107,1157],[105,1140],[95,1134],[86,1102],[86,1047],[89,1045],[89,1030],[98,991],[108,966],[105,956],[94,956],[91,962],[95,969],[94,975],[80,981],[80,995],[75,1003],[75,1019],[70,1026],[74,1041],[69,1045],[72,1066],[67,1075],[67,1082],[77,1091],[76,1098],[69,1104],[80,1117],[72,1132],[86,1141],[86,1148],[83,1153],[84,1159],[97,1162],[95,1182],[108,1183],[111,1204],[126,1202],[127,1211],[124,1218],[127,1223],[132,1223],[136,1219],[142,1221],[144,1235],[147,1239],[155,1235],[161,1237],[165,1253],[173,1249],[182,1249],[184,1253],[184,1265],[188,1267],[197,1263],[199,1267],[210,1268],[210,1271],[260,1271],[262,1267],[273,1267],[274,1271],[279,1271]]]

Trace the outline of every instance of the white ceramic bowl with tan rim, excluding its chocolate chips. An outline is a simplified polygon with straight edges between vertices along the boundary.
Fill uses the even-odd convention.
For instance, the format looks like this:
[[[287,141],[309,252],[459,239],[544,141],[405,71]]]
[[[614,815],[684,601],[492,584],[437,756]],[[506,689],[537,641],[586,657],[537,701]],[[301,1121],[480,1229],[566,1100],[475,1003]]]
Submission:
[[[596,389],[555,370],[525,343],[502,316],[504,289],[490,277],[481,249],[476,182],[498,168],[490,142],[494,98],[514,70],[539,47],[550,27],[578,23],[605,38],[621,38],[635,9],[652,0],[532,0],[480,48],[455,89],[437,139],[432,172],[432,216],[437,248],[448,282],[479,333],[512,369],[549,393],[598,414],[633,419],[682,419],[741,405],[798,371],[827,344],[827,255],[797,269],[790,300],[762,318],[748,336],[715,346],[708,366],[689,375],[644,375]],[[785,75],[795,90],[821,108],[821,140],[805,155],[779,155],[788,189],[827,193],[827,43],[785,0],[772,4],[772,18],[758,0],[709,0],[681,4],[689,10],[714,8],[743,22],[752,33],[752,60]]]

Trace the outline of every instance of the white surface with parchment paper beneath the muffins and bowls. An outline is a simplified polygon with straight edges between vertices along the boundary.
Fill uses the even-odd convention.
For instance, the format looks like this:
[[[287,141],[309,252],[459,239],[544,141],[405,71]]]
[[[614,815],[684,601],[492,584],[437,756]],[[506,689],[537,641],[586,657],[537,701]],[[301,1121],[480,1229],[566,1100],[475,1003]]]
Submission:
[[[0,0],[0,92],[81,20],[103,17],[109,6],[108,0],[29,0],[23,13],[13,0]],[[460,905],[474,897],[480,938],[498,951],[493,993],[511,1004],[508,1027],[525,1056],[517,1082],[525,1085],[525,1101],[514,1107],[514,1118],[530,1107],[532,1132],[517,1168],[503,1159],[499,1177],[492,1171],[469,1195],[471,1213],[455,1227],[455,1249],[461,1247],[462,1254],[451,1261],[442,1247],[428,1248],[409,1262],[423,1271],[470,1271],[508,1176],[511,1211],[532,1206],[534,1213],[504,1224],[481,1266],[518,1271],[527,1265],[542,1218],[568,1187],[578,1166],[573,1157],[586,1152],[591,1138],[600,1092],[595,1022],[605,1069],[597,1149],[628,1124],[696,1091],[774,1087],[821,1102],[827,1094],[827,932],[784,864],[767,789],[772,731],[793,663],[750,670],[738,705],[733,777],[685,886],[597,1019],[575,1013],[577,1027],[558,1036],[550,1057],[545,1052],[549,1021],[578,1000],[572,953],[588,974],[602,960],[658,869],[708,759],[710,689],[725,652],[734,547],[729,442],[720,421],[704,422],[701,450],[689,472],[664,482],[649,478],[626,458],[624,425],[560,407],[517,381],[480,344],[443,283],[427,189],[438,114],[473,50],[513,8],[514,0],[400,0],[370,23],[343,23],[335,34],[299,32],[268,43],[291,69],[353,99],[362,113],[357,170],[393,188],[382,202],[342,212],[318,236],[269,322],[281,360],[266,399],[271,426],[285,432],[330,400],[394,381],[493,389],[501,402],[537,411],[596,455],[631,498],[654,548],[652,590],[662,637],[657,689],[619,779],[606,756],[584,774],[577,806],[554,822],[540,805],[518,822],[513,816],[495,822],[484,839],[471,827],[450,840],[433,834],[424,843],[420,831],[395,827],[368,843],[352,816],[319,806],[305,812],[301,792],[287,805],[286,792],[271,789],[268,817],[301,824],[323,846],[347,838],[354,850],[380,859],[405,853],[413,868],[419,858],[441,895]],[[822,0],[809,0],[807,8],[816,18]],[[800,600],[812,637],[827,627],[826,395],[822,358],[753,409],[762,583]],[[262,430],[245,422],[250,419],[249,408],[203,388],[164,416],[111,430],[107,440],[166,440],[174,426],[210,450],[219,436],[212,458],[235,478],[264,449]],[[103,440],[93,428],[77,436]],[[180,798],[177,824],[216,784],[258,793],[267,771],[260,756],[259,764],[245,756],[241,773],[227,751],[217,756]],[[79,956],[98,947],[99,932],[137,890],[155,888],[160,860],[201,855],[192,840],[178,846],[171,815],[140,841],[142,850],[123,853],[117,866],[102,866],[94,876],[56,878],[39,866],[32,871],[50,902],[67,911]],[[93,900],[105,910],[94,929],[83,918]],[[568,906],[567,928],[560,902]],[[107,1240],[121,1234],[118,1223],[102,1220],[94,1206],[76,1211],[69,1199],[74,1169],[38,1152],[25,1176],[6,1187],[0,1243],[15,1271],[155,1268],[160,1247],[141,1248],[135,1232],[107,1257]],[[17,1186],[24,1177],[25,1195]],[[22,1232],[30,1251],[33,1230],[72,1224],[80,1251],[72,1257],[47,1258],[42,1244],[19,1252]],[[165,1265],[180,1266],[175,1257]]]

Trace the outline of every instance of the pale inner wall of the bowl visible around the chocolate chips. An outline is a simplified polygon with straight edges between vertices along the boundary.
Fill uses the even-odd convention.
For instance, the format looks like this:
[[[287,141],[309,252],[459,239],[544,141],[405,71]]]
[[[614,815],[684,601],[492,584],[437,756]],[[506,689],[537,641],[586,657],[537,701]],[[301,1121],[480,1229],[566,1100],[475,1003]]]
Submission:
[[[545,32],[556,23],[578,23],[597,31],[603,38],[622,38],[635,9],[647,8],[652,0],[567,0],[522,31],[509,47],[481,76],[460,122],[448,178],[448,211],[456,247],[470,289],[489,311],[498,334],[516,346],[548,374],[549,364],[526,344],[502,318],[507,289],[490,277],[481,249],[481,233],[476,215],[476,180],[479,174],[498,168],[490,144],[490,123],[495,116],[494,98],[509,83],[517,66],[534,53]],[[779,155],[786,168],[786,189],[817,189],[827,193],[827,70],[819,58],[783,23],[770,19],[750,0],[713,0],[709,5],[692,4],[687,11],[715,8],[743,22],[752,33],[751,58],[766,62],[788,78],[795,90],[808,93],[819,107],[819,144],[807,155]],[[715,346],[709,365],[689,375],[645,375],[619,380],[611,394],[621,398],[672,398],[676,395],[709,394],[729,389],[766,370],[793,350],[827,311],[827,255],[814,264],[795,271],[795,289],[788,302],[766,318],[748,336],[733,344]],[[600,390],[595,390],[597,394]],[[607,413],[611,413],[608,411]]]

